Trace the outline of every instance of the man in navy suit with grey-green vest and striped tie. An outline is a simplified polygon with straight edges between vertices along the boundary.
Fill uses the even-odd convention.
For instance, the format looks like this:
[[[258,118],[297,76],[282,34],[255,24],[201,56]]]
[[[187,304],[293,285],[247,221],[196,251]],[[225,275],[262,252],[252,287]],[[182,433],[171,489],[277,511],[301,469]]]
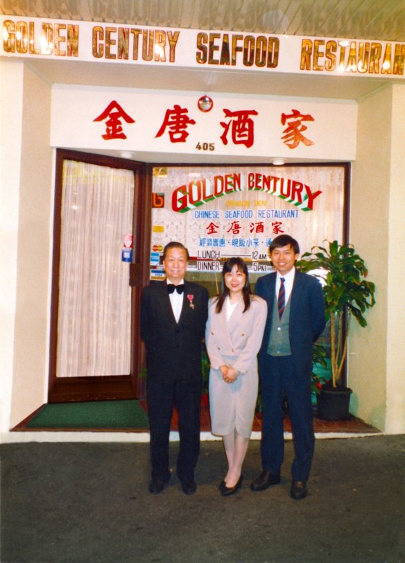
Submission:
[[[280,482],[284,458],[283,401],[293,429],[295,458],[291,467],[291,496],[307,496],[315,436],[311,404],[312,347],[325,328],[325,302],[316,277],[295,268],[300,254],[291,236],[277,236],[269,247],[276,272],[257,280],[256,293],[268,306],[259,374],[263,423],[261,464],[263,471],[250,488],[262,491]]]

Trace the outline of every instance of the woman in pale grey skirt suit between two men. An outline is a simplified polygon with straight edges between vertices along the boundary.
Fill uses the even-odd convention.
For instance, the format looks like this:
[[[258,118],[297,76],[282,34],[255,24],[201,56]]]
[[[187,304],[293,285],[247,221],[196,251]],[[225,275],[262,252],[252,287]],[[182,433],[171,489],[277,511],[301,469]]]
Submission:
[[[230,258],[223,266],[220,295],[209,301],[205,343],[211,371],[209,406],[212,433],[223,438],[228,470],[219,485],[223,496],[242,484],[257,400],[257,352],[261,346],[267,304],[252,295],[245,261]]]

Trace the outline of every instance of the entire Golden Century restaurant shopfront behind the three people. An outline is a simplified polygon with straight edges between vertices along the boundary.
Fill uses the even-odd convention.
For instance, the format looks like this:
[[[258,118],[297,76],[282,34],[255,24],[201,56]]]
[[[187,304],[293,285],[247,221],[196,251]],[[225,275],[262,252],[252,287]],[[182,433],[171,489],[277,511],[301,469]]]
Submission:
[[[141,293],[166,278],[165,245],[187,247],[209,297],[232,257],[255,293],[280,234],[300,258],[350,245],[372,282],[327,316],[313,412],[338,338],[346,419],[405,433],[404,3],[53,4],[0,6],[0,442],[72,440],[33,424],[55,405],[144,414]],[[203,343],[203,392],[208,363]],[[71,428],[149,440],[147,424]]]

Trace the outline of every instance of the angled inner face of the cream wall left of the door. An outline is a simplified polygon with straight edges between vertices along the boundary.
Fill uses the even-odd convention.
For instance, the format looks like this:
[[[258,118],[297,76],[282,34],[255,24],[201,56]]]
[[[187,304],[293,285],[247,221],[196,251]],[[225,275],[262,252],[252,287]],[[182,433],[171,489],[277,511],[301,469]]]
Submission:
[[[51,88],[24,70],[11,426],[46,402],[53,150]],[[29,372],[30,376],[27,377]]]

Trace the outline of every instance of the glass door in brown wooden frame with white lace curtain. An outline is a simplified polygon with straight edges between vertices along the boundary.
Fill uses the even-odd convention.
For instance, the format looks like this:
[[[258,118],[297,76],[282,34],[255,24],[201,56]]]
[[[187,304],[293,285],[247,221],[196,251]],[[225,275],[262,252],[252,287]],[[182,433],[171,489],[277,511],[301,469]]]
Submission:
[[[139,257],[128,241],[139,248],[139,165],[59,161],[49,401],[135,398]]]

